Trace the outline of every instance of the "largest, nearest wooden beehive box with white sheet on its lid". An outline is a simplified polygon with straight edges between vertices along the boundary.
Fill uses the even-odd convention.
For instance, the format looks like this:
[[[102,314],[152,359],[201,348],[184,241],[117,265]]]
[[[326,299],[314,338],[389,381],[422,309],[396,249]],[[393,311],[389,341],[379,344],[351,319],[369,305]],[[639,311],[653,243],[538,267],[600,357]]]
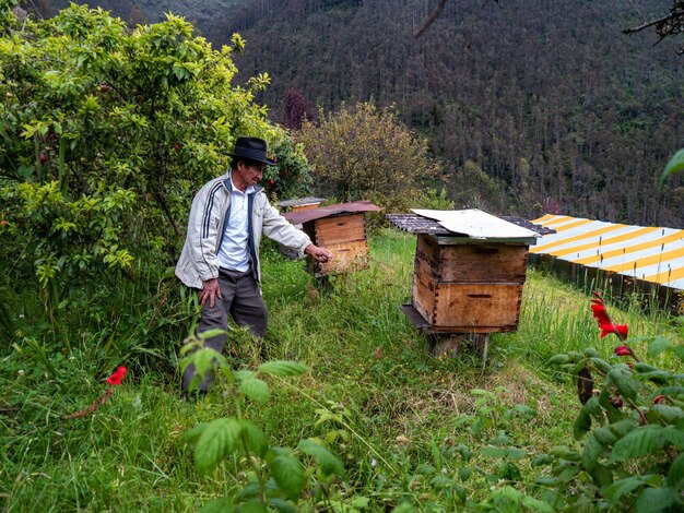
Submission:
[[[538,235],[517,225],[507,227],[508,222],[481,211],[447,214],[451,213],[445,213],[445,219],[457,222],[416,214],[388,216],[396,226],[417,234],[412,298],[403,311],[427,333],[516,330],[528,247]]]

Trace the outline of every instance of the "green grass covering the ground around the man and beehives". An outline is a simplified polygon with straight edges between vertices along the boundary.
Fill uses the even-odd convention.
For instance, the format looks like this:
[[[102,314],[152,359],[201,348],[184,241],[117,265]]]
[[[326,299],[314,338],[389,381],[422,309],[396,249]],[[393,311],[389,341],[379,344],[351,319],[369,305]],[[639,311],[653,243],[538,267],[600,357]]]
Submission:
[[[434,482],[459,472],[460,445],[473,453],[523,449],[527,456],[517,464],[527,479],[535,455],[574,443],[574,387],[546,368],[549,357],[594,346],[615,358],[613,342],[598,337],[588,297],[532,271],[519,329],[493,335],[486,369],[470,351],[428,356],[426,341],[399,309],[411,297],[414,248],[413,236],[380,232],[370,240],[370,269],[334,279],[331,290],[317,288],[300,262],[263,251],[269,357],[304,362],[310,372],[272,380],[267,407],[245,414],[271,444],[328,440],[349,473],[338,497],[347,508],[359,498],[372,511],[403,498],[425,511],[456,508],[453,494]],[[180,333],[192,305],[185,296],[177,303],[184,306],[173,318]],[[613,313],[639,335],[668,330],[636,308]],[[163,338],[168,333],[150,334],[150,346],[164,348],[157,358],[172,355],[167,361],[132,366],[107,403],[74,420],[61,417],[104,392],[104,377],[121,355],[131,355],[129,345],[94,334],[72,341],[70,350],[37,341],[0,353],[7,369],[0,377],[0,504],[7,511],[191,511],[244,484],[239,461],[209,475],[194,469],[182,433],[231,415],[231,402],[217,393],[199,403],[179,399],[179,373],[164,369],[174,368],[180,341]],[[232,354],[238,367],[258,359],[245,337]],[[326,420],[326,414],[334,415]],[[482,499],[492,486],[483,476],[500,462],[474,457],[483,475],[462,486]]]

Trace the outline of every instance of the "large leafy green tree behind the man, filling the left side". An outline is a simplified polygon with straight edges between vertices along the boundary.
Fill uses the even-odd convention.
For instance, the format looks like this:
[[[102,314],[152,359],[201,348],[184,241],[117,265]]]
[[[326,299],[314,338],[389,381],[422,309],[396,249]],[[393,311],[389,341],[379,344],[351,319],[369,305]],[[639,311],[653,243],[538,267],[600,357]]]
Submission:
[[[121,277],[149,273],[154,285],[237,135],[300,159],[253,102],[268,76],[232,85],[239,36],[213,50],[173,15],[129,29],[74,4],[20,22],[15,4],[0,2],[0,261],[12,283],[35,273],[51,308],[85,283],[116,295]]]

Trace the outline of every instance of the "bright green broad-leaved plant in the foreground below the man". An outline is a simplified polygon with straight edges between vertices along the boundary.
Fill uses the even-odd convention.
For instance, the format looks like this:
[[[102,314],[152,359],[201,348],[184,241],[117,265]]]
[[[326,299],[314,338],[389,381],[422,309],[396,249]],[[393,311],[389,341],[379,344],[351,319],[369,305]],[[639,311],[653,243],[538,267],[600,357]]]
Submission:
[[[214,349],[204,347],[204,341],[221,330],[204,332],[199,337],[190,336],[184,346],[181,372],[193,365],[196,375],[190,385],[192,394],[208,372],[216,378],[214,386],[222,395],[233,399],[234,415],[202,423],[186,433],[186,441],[193,446],[198,470],[213,470],[220,463],[233,457],[244,462],[248,474],[247,484],[233,490],[228,497],[205,504],[207,511],[295,511],[307,482],[317,486],[307,488],[314,501],[329,501],[328,490],[337,478],[344,477],[342,462],[317,439],[299,441],[297,449],[270,446],[266,433],[247,418],[247,402],[253,407],[263,407],[270,397],[270,385],[263,377],[287,378],[303,374],[307,369],[302,363],[273,360],[261,363],[256,370],[235,371],[226,358]],[[315,462],[303,465],[300,457]],[[329,504],[328,504],[329,505]]]

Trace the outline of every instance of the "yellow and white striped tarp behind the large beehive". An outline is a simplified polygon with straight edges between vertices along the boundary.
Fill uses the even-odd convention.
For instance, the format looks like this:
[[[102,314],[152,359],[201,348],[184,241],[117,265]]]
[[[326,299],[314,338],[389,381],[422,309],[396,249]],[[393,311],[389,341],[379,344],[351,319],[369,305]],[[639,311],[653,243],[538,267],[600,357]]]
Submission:
[[[553,214],[532,223],[556,232],[539,239],[531,253],[684,289],[684,230]]]

